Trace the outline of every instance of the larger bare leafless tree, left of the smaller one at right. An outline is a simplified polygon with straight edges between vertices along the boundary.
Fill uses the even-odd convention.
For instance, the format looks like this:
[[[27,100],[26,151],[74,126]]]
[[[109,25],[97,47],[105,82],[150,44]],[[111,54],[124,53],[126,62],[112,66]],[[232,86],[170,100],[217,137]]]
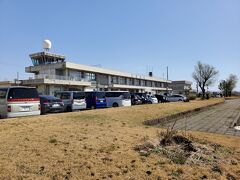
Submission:
[[[203,64],[200,61],[195,65],[195,70],[192,74],[193,79],[196,81],[202,90],[202,98],[205,99],[206,86],[211,86],[216,81],[218,71],[215,67],[209,64]]]

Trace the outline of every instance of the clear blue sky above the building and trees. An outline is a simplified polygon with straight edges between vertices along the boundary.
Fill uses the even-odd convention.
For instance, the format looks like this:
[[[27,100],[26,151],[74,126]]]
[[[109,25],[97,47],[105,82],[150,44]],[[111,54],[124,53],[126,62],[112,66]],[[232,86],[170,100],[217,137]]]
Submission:
[[[197,61],[240,78],[239,0],[0,0],[0,80],[50,39],[72,62],[191,80]],[[217,83],[212,89],[217,89]],[[240,90],[238,83],[237,90]]]

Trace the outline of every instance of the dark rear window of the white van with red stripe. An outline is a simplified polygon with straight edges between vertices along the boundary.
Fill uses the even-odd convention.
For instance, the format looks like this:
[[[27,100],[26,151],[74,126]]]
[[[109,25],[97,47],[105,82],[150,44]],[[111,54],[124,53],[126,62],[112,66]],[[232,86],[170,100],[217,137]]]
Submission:
[[[39,98],[35,88],[11,88],[8,99]]]

